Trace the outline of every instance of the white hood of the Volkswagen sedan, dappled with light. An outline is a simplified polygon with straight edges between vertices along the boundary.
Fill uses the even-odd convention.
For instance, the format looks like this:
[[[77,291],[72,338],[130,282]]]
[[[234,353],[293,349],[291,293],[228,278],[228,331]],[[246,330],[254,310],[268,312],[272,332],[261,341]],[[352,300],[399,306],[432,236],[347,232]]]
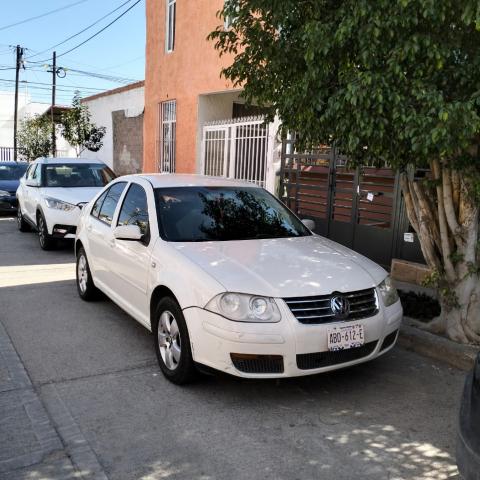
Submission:
[[[318,235],[182,242],[175,248],[227,291],[269,297],[361,290],[377,286],[387,275],[371,260]]]

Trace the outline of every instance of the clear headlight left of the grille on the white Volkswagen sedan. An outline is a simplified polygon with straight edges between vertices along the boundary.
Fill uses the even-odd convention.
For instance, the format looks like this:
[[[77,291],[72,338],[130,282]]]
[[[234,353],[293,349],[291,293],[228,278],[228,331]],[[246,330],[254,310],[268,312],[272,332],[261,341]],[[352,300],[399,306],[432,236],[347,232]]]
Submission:
[[[205,310],[235,322],[274,323],[281,318],[273,298],[244,293],[221,293],[207,303]]]

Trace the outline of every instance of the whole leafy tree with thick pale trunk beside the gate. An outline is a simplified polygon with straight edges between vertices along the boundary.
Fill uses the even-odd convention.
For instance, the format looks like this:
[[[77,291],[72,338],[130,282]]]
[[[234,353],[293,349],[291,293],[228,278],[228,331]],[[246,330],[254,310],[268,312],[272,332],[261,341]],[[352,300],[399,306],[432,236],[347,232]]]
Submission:
[[[227,0],[210,34],[247,102],[303,146],[401,172],[439,289],[430,327],[480,343],[480,6],[476,0]],[[419,168],[429,178],[414,178]]]

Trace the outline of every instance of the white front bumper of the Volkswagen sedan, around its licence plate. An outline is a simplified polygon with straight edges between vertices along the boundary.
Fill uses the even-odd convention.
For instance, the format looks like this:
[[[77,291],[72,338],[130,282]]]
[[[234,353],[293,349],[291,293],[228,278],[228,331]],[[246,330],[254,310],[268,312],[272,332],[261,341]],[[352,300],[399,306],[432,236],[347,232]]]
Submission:
[[[232,322],[201,308],[183,310],[196,362],[246,378],[282,378],[328,372],[372,360],[390,350],[402,320],[400,302],[350,323],[364,327],[365,345],[329,352],[327,328],[300,323],[277,299],[278,323]],[[340,324],[344,324],[340,322]],[[233,354],[233,355],[232,355]]]

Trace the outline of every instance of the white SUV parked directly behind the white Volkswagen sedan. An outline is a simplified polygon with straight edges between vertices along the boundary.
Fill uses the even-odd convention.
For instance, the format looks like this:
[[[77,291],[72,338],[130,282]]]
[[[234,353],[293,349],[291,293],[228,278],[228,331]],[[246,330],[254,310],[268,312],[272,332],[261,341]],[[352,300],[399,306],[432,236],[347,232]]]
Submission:
[[[38,231],[43,250],[56,239],[75,238],[80,211],[115,174],[99,160],[39,158],[20,180],[17,225]]]

